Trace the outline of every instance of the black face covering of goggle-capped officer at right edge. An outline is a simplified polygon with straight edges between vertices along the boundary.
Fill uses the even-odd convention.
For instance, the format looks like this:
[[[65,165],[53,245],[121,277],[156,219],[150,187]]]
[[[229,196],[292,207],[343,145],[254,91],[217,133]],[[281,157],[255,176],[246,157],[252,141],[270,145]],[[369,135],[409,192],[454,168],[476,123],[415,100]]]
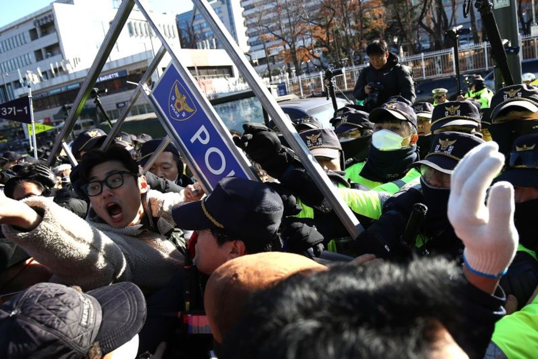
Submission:
[[[538,199],[515,203],[514,223],[519,243],[530,250],[538,250]]]

